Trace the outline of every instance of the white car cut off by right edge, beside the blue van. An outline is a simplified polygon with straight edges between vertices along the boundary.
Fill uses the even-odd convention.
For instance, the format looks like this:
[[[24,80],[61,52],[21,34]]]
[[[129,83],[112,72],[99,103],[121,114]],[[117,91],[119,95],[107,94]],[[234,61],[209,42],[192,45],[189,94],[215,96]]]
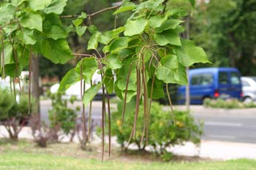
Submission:
[[[241,77],[244,102],[256,101],[256,77]]]

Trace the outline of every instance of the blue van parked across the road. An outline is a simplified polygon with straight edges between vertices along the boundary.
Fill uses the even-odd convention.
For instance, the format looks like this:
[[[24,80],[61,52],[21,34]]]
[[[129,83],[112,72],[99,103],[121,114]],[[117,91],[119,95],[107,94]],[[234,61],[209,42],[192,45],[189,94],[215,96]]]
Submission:
[[[189,70],[190,103],[203,104],[205,98],[243,97],[240,72],[236,68],[202,68]],[[178,104],[185,103],[186,86],[178,88]]]

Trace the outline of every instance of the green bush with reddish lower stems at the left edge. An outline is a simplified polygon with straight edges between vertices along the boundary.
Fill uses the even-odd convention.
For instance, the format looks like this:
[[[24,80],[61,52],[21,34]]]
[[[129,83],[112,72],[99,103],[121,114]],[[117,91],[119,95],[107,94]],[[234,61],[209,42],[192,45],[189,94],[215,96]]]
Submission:
[[[18,101],[9,90],[0,89],[0,119],[12,140],[18,140],[18,134],[29,121],[29,96],[23,94]],[[31,112],[34,110],[31,100]]]

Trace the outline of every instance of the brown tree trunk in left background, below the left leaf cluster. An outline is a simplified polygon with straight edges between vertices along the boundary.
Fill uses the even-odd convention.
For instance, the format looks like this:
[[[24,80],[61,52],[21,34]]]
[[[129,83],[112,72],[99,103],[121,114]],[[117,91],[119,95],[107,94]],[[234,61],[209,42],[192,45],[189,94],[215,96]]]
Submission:
[[[40,88],[39,88],[39,57],[33,55],[32,56],[32,77],[31,77],[31,95],[33,96],[36,104],[36,109],[34,110],[34,114],[37,114],[37,120],[40,120],[40,104],[39,104],[39,96],[40,96]]]

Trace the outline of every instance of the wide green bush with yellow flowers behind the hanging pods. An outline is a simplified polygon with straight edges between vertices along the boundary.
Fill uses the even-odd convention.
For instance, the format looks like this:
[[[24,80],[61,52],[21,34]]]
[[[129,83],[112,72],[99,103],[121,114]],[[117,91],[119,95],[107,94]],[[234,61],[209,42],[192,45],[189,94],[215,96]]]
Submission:
[[[138,115],[135,139],[130,144],[136,144],[139,150],[145,150],[146,139],[140,145],[143,133],[143,107],[140,107]],[[111,119],[113,120],[111,134],[117,136],[117,142],[126,149],[129,136],[132,131],[135,112],[127,113],[124,117],[124,124],[121,124],[121,112],[113,112]],[[175,122],[173,122],[170,112],[164,111],[162,106],[153,103],[151,106],[151,117],[148,133],[148,145],[154,148],[154,152],[162,155],[165,160],[172,158],[171,153],[167,153],[167,147],[175,144],[183,144],[184,142],[200,143],[200,136],[203,134],[203,124],[197,125],[194,118],[189,112],[175,111]]]

